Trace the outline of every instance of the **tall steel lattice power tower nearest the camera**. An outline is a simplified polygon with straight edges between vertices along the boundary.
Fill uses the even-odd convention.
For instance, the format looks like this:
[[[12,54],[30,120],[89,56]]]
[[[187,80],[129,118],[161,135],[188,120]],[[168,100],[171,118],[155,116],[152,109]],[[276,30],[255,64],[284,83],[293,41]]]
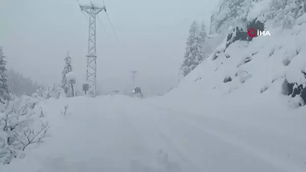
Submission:
[[[89,35],[88,35],[88,54],[87,54],[87,73],[86,83],[88,84],[89,96],[95,97],[97,93],[96,87],[96,15],[101,11],[106,12],[106,8],[94,6],[92,3],[90,6],[80,5],[82,11],[85,11],[89,15]]]

